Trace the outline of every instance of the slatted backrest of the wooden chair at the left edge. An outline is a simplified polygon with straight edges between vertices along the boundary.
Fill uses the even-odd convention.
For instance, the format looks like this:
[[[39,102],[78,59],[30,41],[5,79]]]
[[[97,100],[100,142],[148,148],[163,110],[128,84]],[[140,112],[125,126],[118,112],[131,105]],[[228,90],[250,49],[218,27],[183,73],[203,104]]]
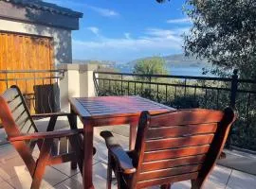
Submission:
[[[9,137],[38,131],[17,86],[0,95],[0,119]]]

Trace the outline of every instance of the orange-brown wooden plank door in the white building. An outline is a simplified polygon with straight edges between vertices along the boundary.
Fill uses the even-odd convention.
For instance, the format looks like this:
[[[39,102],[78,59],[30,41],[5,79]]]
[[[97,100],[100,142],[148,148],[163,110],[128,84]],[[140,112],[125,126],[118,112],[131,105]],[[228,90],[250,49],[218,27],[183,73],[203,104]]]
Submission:
[[[52,68],[52,38],[0,31],[0,71],[51,70]],[[34,94],[35,85],[44,85],[51,82],[50,79],[38,78],[50,77],[51,75],[50,72],[36,74],[0,73],[0,94],[8,86],[16,84],[20,87],[22,93],[27,94],[29,98],[29,95]],[[34,79],[34,77],[37,77],[37,79]],[[8,85],[3,79],[9,79]]]

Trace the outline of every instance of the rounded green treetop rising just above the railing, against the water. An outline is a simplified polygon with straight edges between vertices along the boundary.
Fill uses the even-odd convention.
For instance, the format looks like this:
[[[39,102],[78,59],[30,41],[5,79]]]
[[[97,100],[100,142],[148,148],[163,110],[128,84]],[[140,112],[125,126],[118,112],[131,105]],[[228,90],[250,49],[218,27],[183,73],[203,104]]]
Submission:
[[[166,75],[167,73],[166,62],[160,57],[138,60],[134,67],[134,74]]]

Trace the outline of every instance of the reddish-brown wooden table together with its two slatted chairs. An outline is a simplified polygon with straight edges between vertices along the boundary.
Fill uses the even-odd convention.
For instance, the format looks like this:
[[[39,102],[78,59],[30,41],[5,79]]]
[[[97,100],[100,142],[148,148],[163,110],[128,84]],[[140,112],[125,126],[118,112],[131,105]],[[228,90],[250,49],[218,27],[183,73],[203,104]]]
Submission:
[[[123,125],[130,125],[128,151],[110,131],[101,131],[108,149],[108,189],[113,172],[119,189],[157,185],[167,189],[181,180],[191,180],[192,189],[202,188],[236,118],[231,108],[175,110],[137,95],[71,97],[69,103],[70,113],[32,115],[17,86],[0,95],[2,126],[27,166],[32,189],[40,188],[47,165],[66,162],[71,168],[79,167],[84,189],[94,188],[94,128]],[[67,117],[70,129],[54,129],[59,116]],[[46,132],[40,132],[34,120],[46,117]],[[78,129],[78,117],[82,129]],[[34,160],[36,146],[40,154]]]

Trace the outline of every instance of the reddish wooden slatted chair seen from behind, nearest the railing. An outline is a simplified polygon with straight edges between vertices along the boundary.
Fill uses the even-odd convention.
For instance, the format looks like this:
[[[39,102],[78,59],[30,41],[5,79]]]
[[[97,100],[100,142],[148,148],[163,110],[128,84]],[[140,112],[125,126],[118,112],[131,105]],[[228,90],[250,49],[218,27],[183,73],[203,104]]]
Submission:
[[[202,188],[226,143],[235,114],[211,110],[183,110],[150,115],[142,112],[135,149],[124,151],[109,131],[102,131],[108,148],[107,188],[114,170],[120,189],[192,180]]]

